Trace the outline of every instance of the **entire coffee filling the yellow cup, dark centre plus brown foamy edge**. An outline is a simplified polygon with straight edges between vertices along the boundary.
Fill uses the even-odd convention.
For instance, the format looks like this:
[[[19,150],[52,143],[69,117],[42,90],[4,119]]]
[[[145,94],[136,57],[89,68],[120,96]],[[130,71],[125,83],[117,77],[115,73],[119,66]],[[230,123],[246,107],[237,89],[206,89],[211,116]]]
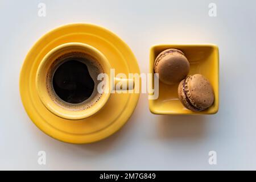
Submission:
[[[53,61],[47,72],[46,87],[49,97],[64,109],[85,110],[98,102],[101,93],[98,74],[100,63],[84,52],[69,52]]]

